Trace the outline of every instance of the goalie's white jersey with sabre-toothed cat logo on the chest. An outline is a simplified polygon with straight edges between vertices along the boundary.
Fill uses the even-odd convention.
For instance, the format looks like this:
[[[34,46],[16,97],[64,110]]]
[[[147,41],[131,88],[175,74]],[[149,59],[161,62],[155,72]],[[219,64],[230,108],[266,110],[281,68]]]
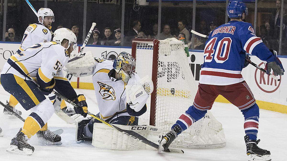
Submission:
[[[93,67],[93,85],[100,110],[100,117],[104,120],[114,116],[130,116],[126,111],[125,84],[111,76],[115,72],[113,61],[97,60]],[[140,81],[137,73],[132,75],[127,85],[133,85]],[[118,114],[120,113],[120,114]]]

